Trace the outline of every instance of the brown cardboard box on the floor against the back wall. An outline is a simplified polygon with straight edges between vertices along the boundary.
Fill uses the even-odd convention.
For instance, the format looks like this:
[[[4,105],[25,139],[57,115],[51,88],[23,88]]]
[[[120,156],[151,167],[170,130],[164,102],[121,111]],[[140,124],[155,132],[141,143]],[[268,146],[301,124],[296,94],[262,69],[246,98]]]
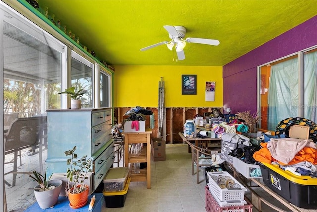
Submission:
[[[151,158],[153,161],[166,160],[166,141],[164,139],[151,139]]]

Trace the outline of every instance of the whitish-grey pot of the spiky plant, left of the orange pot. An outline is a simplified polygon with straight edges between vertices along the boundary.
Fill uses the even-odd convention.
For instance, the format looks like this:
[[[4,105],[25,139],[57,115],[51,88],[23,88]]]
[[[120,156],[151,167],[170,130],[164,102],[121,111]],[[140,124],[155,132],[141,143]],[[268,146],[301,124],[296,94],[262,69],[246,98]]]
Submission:
[[[36,189],[40,188],[39,185],[34,188],[34,196],[41,209],[50,208],[57,203],[63,181],[58,179],[50,180],[49,184],[55,185],[56,188],[48,191],[37,191]]]

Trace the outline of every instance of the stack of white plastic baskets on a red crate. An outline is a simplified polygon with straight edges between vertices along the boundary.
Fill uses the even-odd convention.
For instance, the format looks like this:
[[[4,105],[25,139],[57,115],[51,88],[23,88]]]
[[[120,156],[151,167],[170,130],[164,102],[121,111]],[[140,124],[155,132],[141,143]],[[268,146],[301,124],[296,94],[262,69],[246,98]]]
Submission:
[[[205,187],[207,212],[244,212],[245,210],[252,212],[252,204],[244,200],[244,192],[247,189],[228,172],[208,172],[207,176],[209,182]],[[233,180],[240,188],[220,187],[217,181],[219,176]]]

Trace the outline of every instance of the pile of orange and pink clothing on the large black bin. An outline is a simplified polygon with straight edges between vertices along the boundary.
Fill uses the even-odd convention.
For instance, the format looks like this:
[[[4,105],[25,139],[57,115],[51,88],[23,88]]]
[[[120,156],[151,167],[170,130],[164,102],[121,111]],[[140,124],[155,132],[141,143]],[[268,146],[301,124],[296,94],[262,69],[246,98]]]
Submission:
[[[311,139],[271,138],[260,144],[262,148],[253,154],[258,162],[278,164],[280,168],[297,175],[316,177],[316,144]]]

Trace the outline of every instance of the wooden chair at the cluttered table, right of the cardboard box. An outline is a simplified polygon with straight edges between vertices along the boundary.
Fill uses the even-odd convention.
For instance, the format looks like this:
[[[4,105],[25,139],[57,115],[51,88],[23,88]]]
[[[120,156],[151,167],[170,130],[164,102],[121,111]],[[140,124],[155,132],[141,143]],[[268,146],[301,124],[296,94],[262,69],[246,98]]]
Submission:
[[[203,148],[186,141],[192,152],[192,175],[196,174],[197,184],[199,184],[199,167],[208,167],[212,165],[211,156],[218,154],[218,149],[208,149],[206,146]],[[204,155],[204,156],[203,156]],[[196,165],[196,173],[195,166]]]

